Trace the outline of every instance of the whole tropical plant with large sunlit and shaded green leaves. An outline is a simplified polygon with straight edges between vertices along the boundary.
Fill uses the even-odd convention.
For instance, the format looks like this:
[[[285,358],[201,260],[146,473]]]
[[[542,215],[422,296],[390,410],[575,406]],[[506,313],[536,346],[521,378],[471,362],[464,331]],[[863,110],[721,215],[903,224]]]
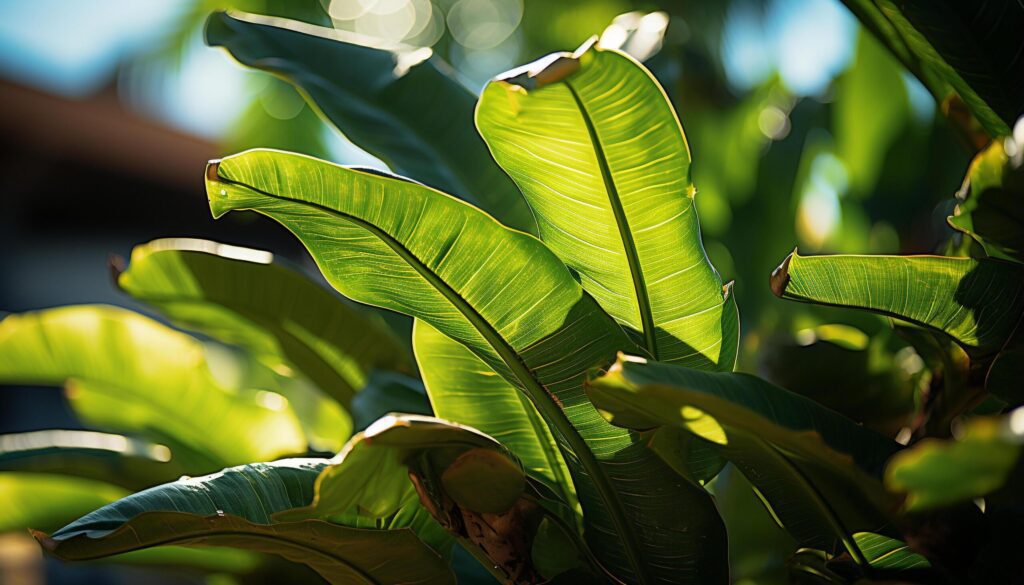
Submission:
[[[716,584],[716,497],[739,473],[800,547],[794,582],[1015,574],[1024,122],[998,134],[1006,105],[947,81],[998,134],[948,255],[795,251],[772,274],[906,340],[802,332],[774,353],[791,390],[733,371],[689,145],[621,50],[651,43],[605,35],[476,99],[422,49],[238,12],[206,34],[411,176],[271,150],[208,165],[215,217],[281,223],[344,298],[268,252],[158,240],[112,266],[173,327],[95,305],[0,322],[0,381],[63,385],[102,430],[0,436],[0,530],[67,560],[284,558],[331,583]],[[415,320],[411,350],[378,309]],[[813,360],[852,395],[815,387]]]

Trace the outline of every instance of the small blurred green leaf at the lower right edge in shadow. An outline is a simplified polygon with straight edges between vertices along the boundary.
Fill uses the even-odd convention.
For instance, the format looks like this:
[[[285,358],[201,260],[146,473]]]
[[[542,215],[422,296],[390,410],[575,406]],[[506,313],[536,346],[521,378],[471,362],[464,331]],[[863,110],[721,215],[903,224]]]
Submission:
[[[905,508],[920,511],[987,496],[1002,487],[1024,446],[1024,410],[977,417],[956,438],[925,438],[886,468],[886,487],[905,493]]]

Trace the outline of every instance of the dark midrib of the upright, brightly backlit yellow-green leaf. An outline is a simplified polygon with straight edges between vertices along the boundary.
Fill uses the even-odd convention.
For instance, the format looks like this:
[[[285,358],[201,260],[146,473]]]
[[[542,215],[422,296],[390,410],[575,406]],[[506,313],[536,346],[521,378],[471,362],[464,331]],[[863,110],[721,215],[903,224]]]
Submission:
[[[611,213],[615,218],[615,225],[618,227],[618,236],[623,242],[623,250],[626,253],[626,260],[630,267],[630,277],[633,281],[633,290],[637,299],[637,310],[640,314],[640,326],[643,329],[644,345],[650,354],[657,360],[657,336],[654,329],[654,314],[650,307],[650,298],[647,295],[647,284],[644,282],[643,268],[640,265],[640,255],[637,251],[636,242],[633,241],[633,232],[630,229],[629,219],[626,217],[626,209],[623,207],[622,197],[615,186],[614,177],[611,176],[611,168],[608,167],[608,160],[604,155],[604,148],[601,145],[601,138],[594,127],[594,121],[584,106],[583,99],[577,93],[568,79],[562,80],[569,94],[575,101],[580,115],[583,117],[590,141],[594,145],[594,154],[597,159],[597,166],[601,169],[601,179],[604,181],[604,190],[608,195],[608,203],[611,206]]]

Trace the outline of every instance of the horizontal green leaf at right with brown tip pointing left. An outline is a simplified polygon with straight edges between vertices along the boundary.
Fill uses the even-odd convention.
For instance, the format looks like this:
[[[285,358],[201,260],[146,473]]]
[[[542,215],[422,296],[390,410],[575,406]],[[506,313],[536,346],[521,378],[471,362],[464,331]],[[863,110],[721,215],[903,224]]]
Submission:
[[[1024,312],[1024,266],[943,256],[801,256],[772,273],[779,297],[862,308],[950,335],[978,356],[998,351]]]

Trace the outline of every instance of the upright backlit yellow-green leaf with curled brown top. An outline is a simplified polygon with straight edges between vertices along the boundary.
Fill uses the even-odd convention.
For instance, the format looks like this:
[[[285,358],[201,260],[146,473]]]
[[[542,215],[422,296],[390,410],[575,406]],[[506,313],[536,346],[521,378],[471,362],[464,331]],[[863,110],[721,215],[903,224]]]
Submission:
[[[735,301],[700,241],[679,119],[643,66],[549,55],[489,83],[476,123],[544,243],[653,358],[732,370]]]

